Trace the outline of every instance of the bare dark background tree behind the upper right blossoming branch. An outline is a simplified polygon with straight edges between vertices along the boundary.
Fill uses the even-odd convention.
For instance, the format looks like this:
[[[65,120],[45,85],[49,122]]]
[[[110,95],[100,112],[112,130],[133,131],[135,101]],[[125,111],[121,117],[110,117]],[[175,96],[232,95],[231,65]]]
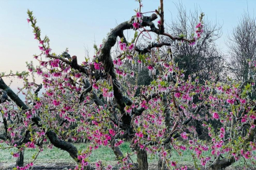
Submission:
[[[199,22],[200,12],[197,8],[187,12],[181,3],[176,4],[176,7],[178,14],[168,24],[168,33],[188,39],[194,38],[197,34],[195,25]],[[181,41],[171,46],[175,62],[178,63],[179,68],[186,70],[185,77],[200,73],[200,83],[210,79],[211,76],[220,75],[224,65],[223,54],[215,44],[216,40],[221,37],[221,26],[210,22],[207,17],[204,18],[202,25],[203,34],[194,46]]]

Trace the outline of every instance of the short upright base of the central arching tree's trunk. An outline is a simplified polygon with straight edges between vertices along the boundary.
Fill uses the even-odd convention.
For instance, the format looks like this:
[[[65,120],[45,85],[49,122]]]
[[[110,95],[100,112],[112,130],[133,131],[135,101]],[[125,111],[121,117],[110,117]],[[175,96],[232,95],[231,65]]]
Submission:
[[[148,170],[147,152],[145,150],[141,150],[139,147],[137,147],[136,151],[137,151],[138,169]]]

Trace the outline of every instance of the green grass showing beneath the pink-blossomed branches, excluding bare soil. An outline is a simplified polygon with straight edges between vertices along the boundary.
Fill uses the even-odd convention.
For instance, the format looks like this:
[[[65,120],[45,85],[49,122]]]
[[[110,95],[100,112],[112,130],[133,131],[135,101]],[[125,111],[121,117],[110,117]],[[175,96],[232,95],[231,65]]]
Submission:
[[[78,150],[83,150],[87,147],[87,144],[74,144]],[[127,154],[131,153],[129,142],[126,142],[121,145],[120,147],[122,153]],[[15,163],[16,158],[13,158],[10,154],[11,152],[17,152],[17,149],[10,148],[6,150],[0,149],[0,163]],[[37,150],[26,148],[25,154],[24,154],[24,160],[25,162],[32,161],[32,156],[36,155]],[[210,156],[210,152],[203,153],[204,156]],[[130,158],[132,158],[132,161],[134,163],[137,162],[136,155],[131,155]],[[92,155],[90,156],[91,162],[96,161],[103,161],[103,163],[108,164],[116,164],[116,156],[114,155],[111,148],[108,147],[100,147],[97,150],[92,152]],[[177,152],[173,152],[172,160],[177,161],[179,165],[189,165],[194,166],[194,160],[192,159],[192,152],[190,150],[186,150],[186,152],[182,153],[182,156],[179,156]],[[157,164],[158,156],[157,155],[148,155],[148,163],[150,164]],[[52,149],[49,149],[47,147],[44,148],[44,151],[38,155],[35,164],[56,164],[56,163],[65,163],[65,164],[75,164],[75,161],[72,160],[72,158],[69,156],[69,153],[59,150],[56,147],[53,147]],[[200,165],[200,160],[196,160],[197,165]],[[233,164],[233,168],[236,167],[242,167],[244,166],[244,160],[241,159],[241,161],[237,161]],[[249,164],[249,166],[252,166],[252,164]],[[254,166],[255,167],[255,166]]]

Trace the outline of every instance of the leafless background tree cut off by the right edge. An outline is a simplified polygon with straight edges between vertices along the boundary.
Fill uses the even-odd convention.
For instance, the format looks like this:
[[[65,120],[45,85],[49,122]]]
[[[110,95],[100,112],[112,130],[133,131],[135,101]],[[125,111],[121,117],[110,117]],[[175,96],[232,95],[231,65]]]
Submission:
[[[249,61],[256,59],[256,23],[255,17],[244,13],[238,25],[228,38],[229,70],[234,78],[246,81],[249,78]]]

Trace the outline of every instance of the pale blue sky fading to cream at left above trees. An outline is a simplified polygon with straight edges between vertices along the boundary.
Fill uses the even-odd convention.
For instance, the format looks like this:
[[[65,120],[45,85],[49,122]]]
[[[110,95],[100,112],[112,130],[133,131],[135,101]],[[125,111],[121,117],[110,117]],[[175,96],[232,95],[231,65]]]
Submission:
[[[187,10],[197,7],[208,20],[223,25],[223,35],[217,41],[223,52],[228,50],[226,38],[241,15],[248,11],[253,16],[256,7],[255,0],[164,0],[166,22],[176,17],[175,4],[179,2]],[[158,9],[160,1],[143,0],[142,4],[142,12],[148,12]],[[27,71],[25,62],[36,63],[33,54],[40,54],[32,27],[27,23],[27,9],[37,18],[41,35],[49,37],[53,52],[61,54],[68,47],[70,55],[77,55],[80,63],[85,47],[92,56],[93,44],[101,44],[110,29],[129,20],[138,7],[134,0],[0,0],[0,73]],[[12,84],[18,85],[19,81]]]

